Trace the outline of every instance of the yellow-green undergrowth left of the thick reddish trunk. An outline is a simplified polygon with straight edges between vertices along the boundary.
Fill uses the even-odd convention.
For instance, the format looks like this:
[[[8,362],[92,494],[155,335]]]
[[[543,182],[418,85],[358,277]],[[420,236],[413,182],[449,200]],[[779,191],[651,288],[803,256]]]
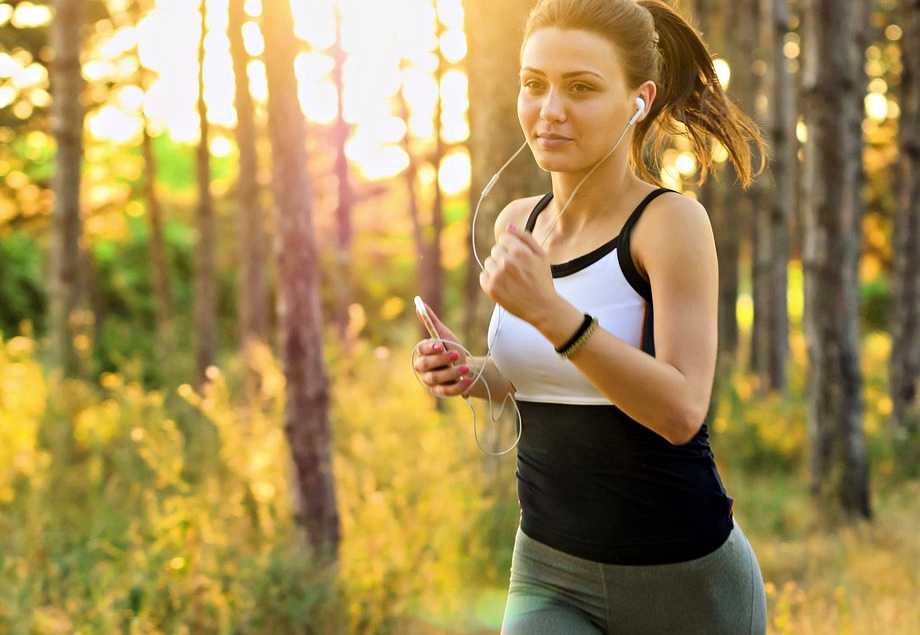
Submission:
[[[219,375],[182,408],[43,378],[34,352],[0,348],[0,631],[334,632],[332,573],[289,521],[277,370],[244,417]]]

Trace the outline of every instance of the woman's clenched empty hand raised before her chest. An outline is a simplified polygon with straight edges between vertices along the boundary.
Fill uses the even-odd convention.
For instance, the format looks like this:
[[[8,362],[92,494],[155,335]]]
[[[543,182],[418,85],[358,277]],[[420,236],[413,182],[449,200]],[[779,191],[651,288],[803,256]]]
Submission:
[[[493,302],[530,323],[559,296],[549,259],[530,232],[508,225],[479,274],[479,286]]]

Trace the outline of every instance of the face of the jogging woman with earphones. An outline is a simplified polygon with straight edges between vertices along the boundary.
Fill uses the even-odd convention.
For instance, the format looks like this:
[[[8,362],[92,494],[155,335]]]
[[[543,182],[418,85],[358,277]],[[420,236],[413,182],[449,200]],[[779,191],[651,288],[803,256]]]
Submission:
[[[544,170],[590,169],[620,137],[635,97],[615,47],[600,35],[553,27],[524,43],[518,119]]]

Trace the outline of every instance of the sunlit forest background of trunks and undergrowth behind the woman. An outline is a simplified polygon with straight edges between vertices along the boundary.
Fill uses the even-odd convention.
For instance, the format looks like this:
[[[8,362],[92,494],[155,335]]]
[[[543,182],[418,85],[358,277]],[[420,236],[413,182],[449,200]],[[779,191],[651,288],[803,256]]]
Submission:
[[[416,383],[411,298],[484,346],[532,4],[0,2],[0,631],[497,632],[514,456]],[[679,3],[772,146],[661,169],[771,633],[920,632],[914,5]]]

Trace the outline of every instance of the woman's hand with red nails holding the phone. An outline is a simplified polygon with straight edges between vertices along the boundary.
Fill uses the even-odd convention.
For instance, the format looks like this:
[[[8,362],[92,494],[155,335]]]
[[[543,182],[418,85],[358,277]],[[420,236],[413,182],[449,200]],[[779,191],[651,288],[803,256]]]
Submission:
[[[429,392],[439,397],[465,395],[473,384],[471,368],[466,354],[447,342],[457,338],[428,307],[428,314],[442,340],[427,339],[419,342],[413,360],[415,373]]]

